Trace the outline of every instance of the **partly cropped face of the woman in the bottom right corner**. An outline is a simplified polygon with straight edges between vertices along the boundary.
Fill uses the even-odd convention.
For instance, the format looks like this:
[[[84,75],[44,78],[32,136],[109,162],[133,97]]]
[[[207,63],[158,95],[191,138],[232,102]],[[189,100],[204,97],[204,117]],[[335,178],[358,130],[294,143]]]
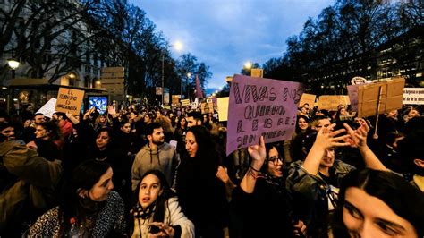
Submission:
[[[351,237],[418,237],[415,228],[382,200],[359,188],[348,188],[343,223]]]

